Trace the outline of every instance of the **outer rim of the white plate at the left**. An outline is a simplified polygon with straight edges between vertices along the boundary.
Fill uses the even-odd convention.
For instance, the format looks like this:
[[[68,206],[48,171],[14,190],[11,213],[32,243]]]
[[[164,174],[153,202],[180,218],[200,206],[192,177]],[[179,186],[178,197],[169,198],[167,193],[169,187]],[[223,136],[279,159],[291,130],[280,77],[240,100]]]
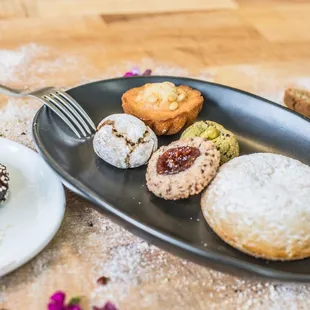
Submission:
[[[64,186],[62,185],[62,183],[59,179],[59,176],[57,173],[55,173],[54,169],[52,169],[50,167],[50,165],[45,160],[42,160],[42,156],[40,156],[37,152],[35,152],[31,148],[29,148],[29,147],[27,147],[21,143],[18,143],[16,141],[13,141],[11,139],[0,137],[0,143],[1,143],[1,141],[5,141],[5,143],[9,143],[13,146],[18,147],[19,149],[22,149],[22,150],[25,150],[26,152],[29,152],[30,154],[32,154],[32,156],[36,157],[37,159],[40,159],[42,161],[42,165],[45,165],[45,167],[50,170],[50,172],[54,175],[55,184],[57,184],[57,186],[59,187],[59,191],[58,191],[59,194],[58,195],[59,195],[59,198],[61,200],[61,203],[59,204],[60,205],[59,209],[61,210],[61,212],[59,212],[59,217],[58,217],[56,225],[50,231],[48,237],[44,239],[44,242],[38,244],[32,251],[30,251],[27,255],[25,255],[23,257],[23,259],[18,259],[16,263],[14,262],[14,264],[9,265],[10,266],[9,268],[5,269],[3,273],[0,273],[0,278],[12,273],[13,271],[18,270],[19,268],[24,266],[26,263],[30,262],[32,259],[34,259],[36,256],[38,256],[49,245],[49,243],[53,240],[53,238],[55,237],[55,235],[59,231],[59,228],[60,228],[60,226],[63,222],[64,216],[65,216],[65,210],[66,210],[66,195],[65,195]]]

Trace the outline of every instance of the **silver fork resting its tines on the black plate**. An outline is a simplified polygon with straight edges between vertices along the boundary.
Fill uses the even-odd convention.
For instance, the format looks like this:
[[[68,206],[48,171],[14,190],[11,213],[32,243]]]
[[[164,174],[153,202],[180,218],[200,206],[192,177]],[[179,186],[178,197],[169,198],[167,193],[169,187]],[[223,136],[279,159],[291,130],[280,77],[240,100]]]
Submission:
[[[22,91],[0,84],[0,93],[12,97],[32,97],[39,99],[53,110],[76,134],[78,138],[88,137],[96,131],[96,126],[83,108],[65,91],[45,87],[35,91]]]

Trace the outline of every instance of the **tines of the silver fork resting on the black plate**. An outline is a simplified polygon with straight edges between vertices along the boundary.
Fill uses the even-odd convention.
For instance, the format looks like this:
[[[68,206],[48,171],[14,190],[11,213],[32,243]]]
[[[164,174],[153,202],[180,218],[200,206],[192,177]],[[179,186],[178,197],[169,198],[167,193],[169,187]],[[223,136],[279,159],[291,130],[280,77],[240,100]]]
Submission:
[[[84,109],[66,92],[52,88],[42,93],[41,98],[79,138],[96,131],[95,124]]]

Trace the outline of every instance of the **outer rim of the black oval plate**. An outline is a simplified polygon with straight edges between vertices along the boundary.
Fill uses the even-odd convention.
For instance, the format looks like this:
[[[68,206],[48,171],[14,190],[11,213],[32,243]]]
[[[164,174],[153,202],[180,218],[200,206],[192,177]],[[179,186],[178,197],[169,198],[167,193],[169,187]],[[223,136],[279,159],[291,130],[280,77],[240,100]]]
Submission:
[[[97,81],[91,81],[85,84],[81,84],[78,86],[74,86],[72,88],[68,88],[66,91],[70,93],[70,91],[78,89],[83,86],[87,85],[92,85],[92,84],[100,84],[100,83],[105,83],[105,82],[117,82],[119,80],[124,80],[124,79],[141,79],[141,80],[146,80],[150,78],[158,78],[158,79],[181,79],[181,80],[190,80],[193,82],[199,82],[199,83],[206,83],[209,85],[213,85],[216,87],[220,88],[225,88],[229,90],[233,90],[238,93],[242,93],[244,95],[247,95],[249,97],[254,97],[260,101],[264,101],[267,104],[270,104],[272,106],[275,106],[276,108],[280,108],[285,110],[288,113],[292,113],[295,116],[301,118],[302,120],[309,122],[310,119],[307,117],[292,111],[288,109],[285,106],[282,106],[280,104],[277,104],[271,100],[268,100],[266,98],[260,97],[258,95],[252,94],[250,92],[230,87],[227,85],[219,84],[219,83],[214,83],[214,82],[209,82],[209,81],[204,81],[204,80],[199,80],[199,79],[194,79],[194,78],[188,78],[188,77],[179,77],[179,76],[168,76],[168,75],[152,75],[152,76],[137,76],[137,77],[117,77],[117,78],[110,78],[110,79],[103,79],[103,80],[97,80]],[[92,190],[89,190],[86,186],[84,186],[79,180],[75,179],[72,177],[69,173],[64,171],[62,167],[55,161],[53,158],[49,155],[48,151],[44,148],[42,145],[40,138],[39,138],[39,132],[38,132],[38,119],[43,113],[44,110],[46,110],[46,106],[42,106],[37,113],[35,114],[33,118],[33,123],[32,123],[32,134],[33,134],[33,140],[35,142],[36,148],[39,152],[39,154],[42,156],[42,158],[46,161],[46,163],[55,171],[56,174],[63,180],[63,183],[69,184],[72,186],[78,195],[81,195],[85,199],[89,200],[90,202],[94,203],[99,207],[99,209],[103,208],[107,210],[108,212],[112,213],[114,216],[119,217],[121,220],[129,223],[130,225],[134,226],[135,228],[142,230],[143,232],[160,239],[161,242],[167,243],[171,246],[180,248],[182,250],[185,250],[187,252],[191,252],[194,255],[198,255],[199,257],[202,257],[204,260],[209,260],[211,262],[221,262],[221,264],[224,265],[230,265],[236,269],[239,270],[244,270],[246,272],[252,273],[253,275],[262,277],[262,278],[268,278],[269,280],[279,280],[279,281],[284,281],[284,282],[310,282],[310,274],[305,275],[305,274],[296,274],[292,272],[286,272],[286,271],[280,271],[276,269],[270,270],[270,268],[265,267],[265,266],[257,266],[253,263],[245,262],[245,261],[240,261],[240,259],[234,258],[234,257],[228,257],[227,255],[221,254],[221,253],[216,253],[208,248],[205,248],[204,250],[196,248],[194,246],[191,246],[187,244],[184,241],[179,240],[178,238],[168,236],[165,233],[160,232],[159,230],[155,228],[151,228],[147,225],[144,225],[140,223],[138,220],[132,219],[123,212],[120,212],[119,210],[115,209],[112,205],[110,205],[106,200],[101,199],[95,192]],[[285,262],[284,262],[285,263]]]

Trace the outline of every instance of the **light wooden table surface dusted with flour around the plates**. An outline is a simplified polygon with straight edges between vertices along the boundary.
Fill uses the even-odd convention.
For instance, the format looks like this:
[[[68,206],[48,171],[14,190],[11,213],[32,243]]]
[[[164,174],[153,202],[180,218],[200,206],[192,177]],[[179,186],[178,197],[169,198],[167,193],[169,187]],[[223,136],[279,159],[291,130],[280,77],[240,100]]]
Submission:
[[[308,0],[0,0],[0,83],[70,87],[137,65],[281,104],[286,87],[310,88],[309,16]],[[33,148],[39,107],[0,97],[0,134]],[[101,276],[106,285],[96,283]],[[181,260],[69,192],[50,245],[0,279],[0,309],[45,309],[56,290],[83,296],[84,309],[106,300],[122,310],[309,309],[310,297],[307,286],[245,281]]]

